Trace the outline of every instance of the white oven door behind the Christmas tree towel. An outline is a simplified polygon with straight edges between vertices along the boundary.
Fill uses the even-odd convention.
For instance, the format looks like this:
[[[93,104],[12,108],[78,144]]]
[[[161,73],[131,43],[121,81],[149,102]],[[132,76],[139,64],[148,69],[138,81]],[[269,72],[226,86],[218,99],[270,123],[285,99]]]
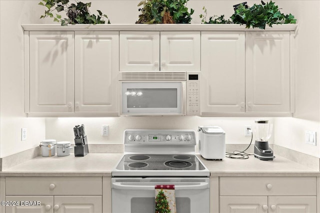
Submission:
[[[174,184],[176,212],[209,212],[208,177],[118,177],[111,181],[112,213],[154,212],[154,185],[160,184]]]

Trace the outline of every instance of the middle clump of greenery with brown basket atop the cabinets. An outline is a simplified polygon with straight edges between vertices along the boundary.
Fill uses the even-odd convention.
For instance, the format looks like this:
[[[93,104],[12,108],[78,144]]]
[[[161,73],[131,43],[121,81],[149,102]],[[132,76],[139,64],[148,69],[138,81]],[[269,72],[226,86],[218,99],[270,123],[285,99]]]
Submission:
[[[138,6],[143,6],[139,19],[135,23],[190,23],[191,8],[188,12],[188,0],[142,0]]]

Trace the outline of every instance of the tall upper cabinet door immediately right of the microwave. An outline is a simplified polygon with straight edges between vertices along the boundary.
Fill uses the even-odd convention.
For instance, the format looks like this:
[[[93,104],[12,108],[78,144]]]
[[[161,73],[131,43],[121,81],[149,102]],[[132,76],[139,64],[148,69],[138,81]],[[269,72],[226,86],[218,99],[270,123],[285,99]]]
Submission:
[[[202,112],[244,111],[244,32],[201,32]]]

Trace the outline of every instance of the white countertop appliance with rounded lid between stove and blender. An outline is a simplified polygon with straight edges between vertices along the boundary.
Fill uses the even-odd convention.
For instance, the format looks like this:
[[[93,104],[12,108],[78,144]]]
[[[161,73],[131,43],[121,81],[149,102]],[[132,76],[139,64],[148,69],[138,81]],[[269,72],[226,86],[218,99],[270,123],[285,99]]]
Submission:
[[[206,159],[225,157],[225,132],[219,126],[199,126],[199,153]]]

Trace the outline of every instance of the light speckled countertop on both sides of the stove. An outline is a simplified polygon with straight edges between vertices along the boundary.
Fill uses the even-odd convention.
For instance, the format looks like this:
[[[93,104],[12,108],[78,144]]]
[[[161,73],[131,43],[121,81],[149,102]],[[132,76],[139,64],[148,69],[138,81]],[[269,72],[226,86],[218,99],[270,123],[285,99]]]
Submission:
[[[2,176],[111,176],[122,153],[89,153],[84,157],[38,156],[1,171]],[[320,172],[277,156],[263,161],[248,159],[206,160],[198,157],[210,170],[210,176],[319,176]]]

